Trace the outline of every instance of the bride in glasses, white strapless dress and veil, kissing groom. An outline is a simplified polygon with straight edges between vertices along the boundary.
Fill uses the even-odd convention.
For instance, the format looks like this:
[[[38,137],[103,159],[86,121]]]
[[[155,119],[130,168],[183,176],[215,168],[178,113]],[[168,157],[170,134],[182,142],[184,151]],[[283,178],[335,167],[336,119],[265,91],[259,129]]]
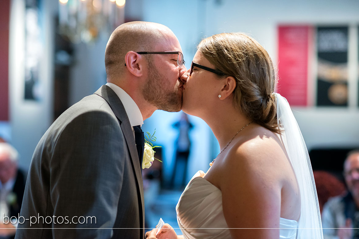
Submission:
[[[186,74],[182,110],[206,121],[221,150],[178,201],[183,235],[165,224],[157,238],[323,238],[308,152],[288,102],[274,93],[266,50],[243,33],[213,35]]]

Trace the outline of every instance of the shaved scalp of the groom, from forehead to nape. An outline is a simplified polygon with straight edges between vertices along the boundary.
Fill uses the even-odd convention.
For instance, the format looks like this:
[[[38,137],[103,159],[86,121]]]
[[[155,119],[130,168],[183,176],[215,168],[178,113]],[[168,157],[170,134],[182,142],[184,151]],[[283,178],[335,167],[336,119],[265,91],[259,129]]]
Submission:
[[[154,51],[174,34],[165,25],[146,21],[131,21],[118,26],[111,34],[105,51],[108,80],[117,78],[125,70],[125,55],[129,51]]]

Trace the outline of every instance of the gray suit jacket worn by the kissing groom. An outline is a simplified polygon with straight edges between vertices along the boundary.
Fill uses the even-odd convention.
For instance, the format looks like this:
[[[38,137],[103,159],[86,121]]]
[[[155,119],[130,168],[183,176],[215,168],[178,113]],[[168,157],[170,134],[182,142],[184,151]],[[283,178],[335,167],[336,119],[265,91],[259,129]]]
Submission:
[[[60,115],[38,143],[15,238],[143,239],[140,167],[126,111],[102,86]]]

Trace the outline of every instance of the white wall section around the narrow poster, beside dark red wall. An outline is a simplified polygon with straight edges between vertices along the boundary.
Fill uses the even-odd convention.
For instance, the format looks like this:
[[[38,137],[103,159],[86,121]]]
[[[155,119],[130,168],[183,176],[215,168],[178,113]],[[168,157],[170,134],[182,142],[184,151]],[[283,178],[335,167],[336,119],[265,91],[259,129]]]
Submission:
[[[53,16],[55,5],[43,1],[43,52],[39,71],[40,101],[24,100],[24,0],[12,0],[9,32],[9,97],[11,143],[20,153],[20,167],[27,169],[34,149],[50,126],[53,114]]]

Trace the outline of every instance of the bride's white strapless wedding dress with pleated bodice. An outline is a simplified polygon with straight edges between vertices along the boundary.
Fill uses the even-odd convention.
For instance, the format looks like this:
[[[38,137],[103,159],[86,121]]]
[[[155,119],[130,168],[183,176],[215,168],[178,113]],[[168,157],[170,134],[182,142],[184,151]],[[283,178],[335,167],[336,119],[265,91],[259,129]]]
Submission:
[[[186,239],[231,238],[222,209],[222,192],[198,171],[176,206],[177,221]],[[297,221],[280,218],[279,238],[295,239]]]

